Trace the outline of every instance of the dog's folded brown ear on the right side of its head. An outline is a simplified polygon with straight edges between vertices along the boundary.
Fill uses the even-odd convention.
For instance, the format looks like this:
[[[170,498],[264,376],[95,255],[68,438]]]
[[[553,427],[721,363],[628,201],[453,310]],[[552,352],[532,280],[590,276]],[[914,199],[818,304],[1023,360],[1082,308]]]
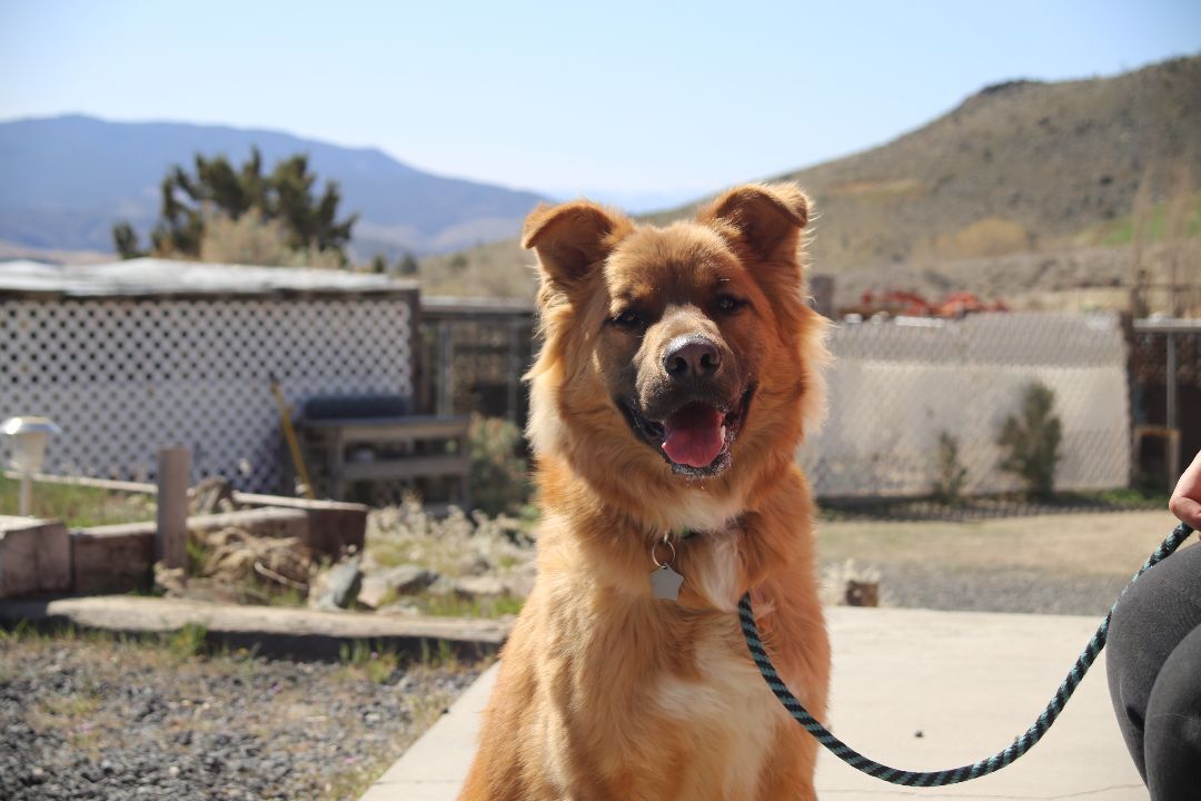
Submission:
[[[791,261],[809,221],[809,199],[795,184],[749,184],[728,190],[697,220],[760,258]]]

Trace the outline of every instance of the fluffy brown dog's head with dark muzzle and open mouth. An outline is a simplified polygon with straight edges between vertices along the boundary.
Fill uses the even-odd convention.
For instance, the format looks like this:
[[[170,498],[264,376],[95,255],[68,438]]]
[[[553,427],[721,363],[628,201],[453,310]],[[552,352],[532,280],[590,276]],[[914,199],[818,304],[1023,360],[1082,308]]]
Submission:
[[[536,448],[646,491],[733,486],[745,460],[790,461],[824,355],[801,297],[808,216],[788,184],[730,190],[665,228],[587,201],[536,209],[522,239],[546,336]]]

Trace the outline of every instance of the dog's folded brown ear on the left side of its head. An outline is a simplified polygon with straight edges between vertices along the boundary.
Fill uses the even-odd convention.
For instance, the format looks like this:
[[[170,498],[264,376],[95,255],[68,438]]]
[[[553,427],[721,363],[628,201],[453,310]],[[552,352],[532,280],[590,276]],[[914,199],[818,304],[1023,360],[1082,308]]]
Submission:
[[[632,229],[626,215],[591,201],[540,204],[526,217],[521,246],[534,249],[546,277],[569,287],[604,261]]]

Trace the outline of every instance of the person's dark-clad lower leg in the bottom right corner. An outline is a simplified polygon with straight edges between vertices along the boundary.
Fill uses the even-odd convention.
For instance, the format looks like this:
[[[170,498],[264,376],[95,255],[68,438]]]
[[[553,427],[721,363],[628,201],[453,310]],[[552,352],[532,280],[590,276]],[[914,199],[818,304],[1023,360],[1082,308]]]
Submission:
[[[1201,800],[1201,626],[1169,654],[1143,725],[1152,801]]]

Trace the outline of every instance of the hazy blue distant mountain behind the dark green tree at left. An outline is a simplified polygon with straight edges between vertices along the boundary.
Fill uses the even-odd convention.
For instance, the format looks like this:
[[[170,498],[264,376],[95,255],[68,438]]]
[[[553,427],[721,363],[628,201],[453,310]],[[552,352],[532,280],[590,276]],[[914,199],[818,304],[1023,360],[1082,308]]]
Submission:
[[[442,178],[374,148],[342,148],[276,131],[175,122],[108,122],[56,116],[0,122],[0,240],[56,250],[112,251],[112,226],[145,233],[159,214],[159,185],[195,154],[234,163],[257,145],[267,169],[309,154],[319,181],[336,180],[343,214],[358,211],[353,249],[438,252],[520,231],[542,199],[468,180]]]

